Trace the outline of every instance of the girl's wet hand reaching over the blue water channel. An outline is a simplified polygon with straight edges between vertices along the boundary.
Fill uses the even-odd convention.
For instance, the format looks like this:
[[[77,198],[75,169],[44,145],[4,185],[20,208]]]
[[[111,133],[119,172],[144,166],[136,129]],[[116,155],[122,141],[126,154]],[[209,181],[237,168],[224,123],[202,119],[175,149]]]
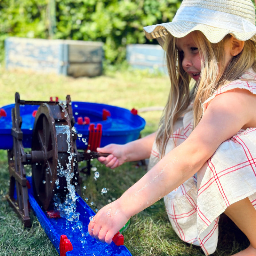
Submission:
[[[103,208],[91,218],[88,232],[102,243],[110,244],[113,236],[124,227],[129,218],[122,210],[118,199]]]

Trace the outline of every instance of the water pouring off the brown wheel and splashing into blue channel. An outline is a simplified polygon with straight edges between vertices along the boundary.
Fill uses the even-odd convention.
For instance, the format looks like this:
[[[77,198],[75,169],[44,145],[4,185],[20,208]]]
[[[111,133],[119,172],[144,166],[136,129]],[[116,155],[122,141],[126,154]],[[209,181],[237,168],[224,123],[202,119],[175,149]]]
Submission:
[[[57,189],[60,188],[60,177],[65,177],[67,181],[68,193],[65,198],[60,199],[57,195],[54,196],[53,205],[56,207],[56,210],[60,212],[59,219],[50,219],[50,222],[54,227],[58,227],[58,231],[62,232],[66,230],[68,238],[71,240],[77,241],[77,245],[73,247],[72,255],[76,256],[114,256],[120,253],[120,247],[112,248],[108,244],[103,244],[97,241],[95,238],[91,237],[88,233],[88,222],[86,216],[79,212],[76,212],[76,200],[79,203],[79,196],[76,196],[75,186],[71,184],[72,178],[74,177],[74,173],[71,172],[72,165],[75,160],[75,154],[71,152],[71,143],[70,143],[70,129],[69,126],[55,126],[56,135],[66,134],[67,135],[67,143],[68,143],[68,163],[66,166],[62,166],[58,159],[57,166],[57,176],[56,186]],[[79,136],[78,136],[79,137]],[[97,168],[95,169],[95,171]],[[99,172],[95,172],[95,178],[99,177]],[[84,186],[84,189],[86,186]],[[107,193],[107,189],[103,188],[102,193]],[[64,200],[63,200],[64,199]],[[85,198],[85,201],[88,201],[88,198]],[[93,202],[91,202],[93,205]],[[96,209],[96,212],[98,210]],[[85,212],[86,214],[87,212]],[[89,219],[88,219],[89,220]],[[93,220],[93,216],[90,217],[90,220]],[[59,234],[61,235],[61,234]],[[73,242],[72,242],[73,243]],[[80,244],[80,245],[79,245]],[[115,253],[116,252],[116,253]]]

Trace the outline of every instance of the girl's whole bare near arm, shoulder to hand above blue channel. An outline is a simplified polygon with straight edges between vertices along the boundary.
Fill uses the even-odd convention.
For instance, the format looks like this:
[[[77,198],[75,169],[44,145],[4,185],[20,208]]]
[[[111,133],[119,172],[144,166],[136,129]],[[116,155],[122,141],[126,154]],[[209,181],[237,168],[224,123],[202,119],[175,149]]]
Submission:
[[[102,242],[142,211],[195,174],[220,144],[241,128],[256,127],[256,97],[245,90],[215,97],[200,123],[180,146],[165,155],[124,194],[103,207],[89,223],[89,233]]]

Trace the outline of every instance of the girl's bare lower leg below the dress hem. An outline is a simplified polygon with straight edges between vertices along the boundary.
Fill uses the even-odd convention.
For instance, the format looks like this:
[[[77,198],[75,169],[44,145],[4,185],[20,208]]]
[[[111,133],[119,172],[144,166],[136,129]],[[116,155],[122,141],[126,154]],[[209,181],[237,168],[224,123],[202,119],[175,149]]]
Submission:
[[[229,205],[224,213],[233,220],[236,226],[250,241],[250,246],[248,248],[234,255],[256,255],[256,210],[249,198],[246,197],[243,200]]]

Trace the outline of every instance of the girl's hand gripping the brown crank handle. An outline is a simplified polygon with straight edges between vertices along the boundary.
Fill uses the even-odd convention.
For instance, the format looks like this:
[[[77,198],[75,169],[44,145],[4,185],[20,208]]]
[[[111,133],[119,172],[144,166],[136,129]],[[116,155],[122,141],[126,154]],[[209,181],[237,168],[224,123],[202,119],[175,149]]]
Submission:
[[[125,156],[125,145],[109,144],[104,148],[97,148],[97,152],[109,153],[109,156],[100,156],[98,160],[100,163],[105,164],[107,167],[114,169],[124,162],[126,162],[127,157]]]

